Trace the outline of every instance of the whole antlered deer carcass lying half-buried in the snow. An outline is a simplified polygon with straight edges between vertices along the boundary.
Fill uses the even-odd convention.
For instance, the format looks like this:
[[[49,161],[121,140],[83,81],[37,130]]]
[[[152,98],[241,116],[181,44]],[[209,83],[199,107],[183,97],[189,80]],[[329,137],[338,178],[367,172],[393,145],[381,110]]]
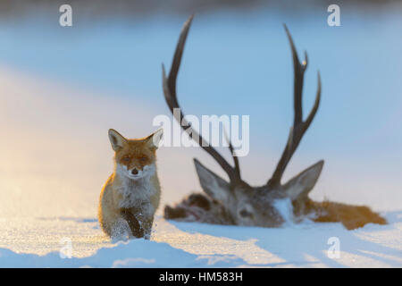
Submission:
[[[176,51],[172,61],[171,71],[166,77],[163,67],[163,93],[167,105],[173,114],[174,108],[180,108],[176,94],[176,78],[178,75],[181,56],[188,36],[193,16],[185,22]],[[308,198],[309,192],[314,188],[322,171],[323,161],[319,161],[297,174],[286,183],[281,183],[281,177],[289,164],[297,147],[313,122],[317,113],[321,98],[321,79],[317,72],[318,87],[312,110],[303,117],[302,89],[304,74],[307,68],[307,55],[305,61],[299,62],[296,47],[290,36],[289,29],[285,25],[285,31],[289,38],[290,49],[293,57],[294,69],[294,121],[289,130],[287,144],[281,154],[270,180],[260,187],[252,187],[240,176],[239,158],[233,147],[229,144],[234,166],[230,165],[218,151],[185,122],[182,110],[180,118],[175,118],[180,126],[197,138],[200,147],[221,165],[227,173],[229,181],[223,180],[211,170],[207,169],[197,159],[194,160],[197,175],[203,194],[192,194],[184,198],[176,206],[165,206],[164,217],[187,222],[220,223],[262,227],[281,226],[286,221],[299,222],[305,218],[314,222],[341,222],[347,229],[355,229],[366,223],[386,223],[379,214],[374,213],[366,206],[349,206],[333,202],[315,202]],[[178,116],[179,117],[179,116]]]

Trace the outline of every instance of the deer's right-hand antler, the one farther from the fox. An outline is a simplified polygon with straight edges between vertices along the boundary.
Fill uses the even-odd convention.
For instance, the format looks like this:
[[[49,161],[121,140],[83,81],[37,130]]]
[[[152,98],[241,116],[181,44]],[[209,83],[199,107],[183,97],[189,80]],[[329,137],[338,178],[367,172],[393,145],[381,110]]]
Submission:
[[[306,130],[310,126],[311,122],[313,122],[314,116],[317,113],[318,106],[320,105],[321,98],[321,78],[320,71],[317,71],[318,78],[318,87],[317,93],[315,96],[315,102],[313,109],[310,114],[308,114],[306,121],[303,122],[303,108],[302,108],[302,94],[303,94],[303,81],[305,76],[305,71],[308,64],[307,53],[305,52],[305,61],[300,63],[297,56],[296,47],[293,43],[293,39],[290,36],[289,29],[286,25],[283,25],[286,30],[286,34],[289,38],[290,48],[292,50],[293,56],[293,68],[294,68],[294,112],[295,118],[293,122],[293,126],[289,131],[288,143],[286,144],[285,149],[281,155],[281,159],[278,162],[275,171],[272,174],[272,178],[267,182],[267,185],[270,187],[279,186],[281,184],[281,177],[283,172],[286,169],[286,166],[289,164],[290,158],[295,153],[300,140],[306,133]]]

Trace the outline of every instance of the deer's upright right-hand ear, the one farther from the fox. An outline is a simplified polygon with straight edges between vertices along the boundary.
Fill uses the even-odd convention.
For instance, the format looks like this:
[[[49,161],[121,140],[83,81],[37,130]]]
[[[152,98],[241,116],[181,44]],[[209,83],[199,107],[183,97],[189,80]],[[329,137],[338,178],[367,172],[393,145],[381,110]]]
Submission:
[[[308,193],[314,188],[318,177],[320,177],[323,163],[323,161],[319,161],[290,179],[283,186],[287,197],[291,200],[307,198]]]

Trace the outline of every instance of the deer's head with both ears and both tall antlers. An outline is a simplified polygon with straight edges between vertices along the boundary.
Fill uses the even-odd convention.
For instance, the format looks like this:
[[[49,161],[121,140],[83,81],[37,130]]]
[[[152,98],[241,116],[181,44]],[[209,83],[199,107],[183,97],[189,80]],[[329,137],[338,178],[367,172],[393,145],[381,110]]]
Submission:
[[[176,79],[180,68],[181,56],[183,54],[184,45],[188,36],[193,15],[188,18],[180,33],[179,42],[172,61],[171,71],[166,77],[163,66],[163,93],[167,105],[173,114],[174,108],[180,108],[176,94]],[[322,171],[323,161],[308,167],[305,171],[300,172],[294,178],[286,183],[281,183],[281,177],[289,164],[290,158],[293,156],[297,147],[303,138],[306,130],[313,122],[314,116],[320,105],[321,97],[321,80],[320,73],[318,76],[318,88],[315,97],[314,106],[306,117],[303,119],[302,109],[302,89],[304,74],[307,68],[307,54],[305,53],[305,61],[299,62],[296,47],[290,36],[289,29],[285,27],[285,31],[289,38],[291,53],[293,56],[294,68],[294,121],[293,126],[289,130],[289,138],[282,152],[281,159],[277,164],[275,171],[270,180],[261,187],[251,187],[240,176],[239,157],[236,156],[232,145],[229,142],[230,153],[232,155],[234,166],[230,165],[217,150],[210,146],[205,140],[192,130],[189,124],[186,124],[184,114],[181,110],[180,118],[175,118],[180,126],[192,134],[192,138],[197,138],[202,148],[214,160],[221,165],[222,169],[227,173],[229,181],[223,180],[211,170],[207,169],[197,159],[194,160],[198,178],[202,189],[205,193],[219,202],[226,213],[230,216],[233,223],[238,225],[255,225],[264,227],[279,226],[281,223],[289,220],[289,215],[293,214],[292,206],[303,206],[307,199],[308,193],[314,188],[315,182],[318,180]],[[173,114],[174,115],[174,114]],[[179,117],[179,116],[178,116]]]

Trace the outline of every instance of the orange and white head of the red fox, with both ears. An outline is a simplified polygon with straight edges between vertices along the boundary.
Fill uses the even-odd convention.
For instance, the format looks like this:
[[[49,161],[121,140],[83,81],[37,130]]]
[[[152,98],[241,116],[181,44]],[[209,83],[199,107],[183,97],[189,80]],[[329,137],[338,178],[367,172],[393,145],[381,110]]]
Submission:
[[[152,176],[156,170],[155,151],[162,137],[162,129],[142,139],[126,139],[116,130],[109,130],[109,140],[115,152],[115,171],[131,180]]]

